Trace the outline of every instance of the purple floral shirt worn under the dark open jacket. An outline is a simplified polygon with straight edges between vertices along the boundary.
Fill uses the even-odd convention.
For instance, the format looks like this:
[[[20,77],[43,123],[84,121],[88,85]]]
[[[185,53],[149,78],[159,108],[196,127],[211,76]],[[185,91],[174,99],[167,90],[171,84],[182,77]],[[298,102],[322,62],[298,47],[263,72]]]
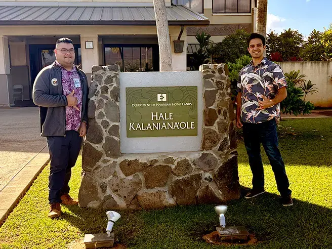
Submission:
[[[66,131],[78,131],[81,121],[81,110],[82,110],[82,87],[79,78],[79,74],[75,66],[71,71],[67,71],[62,65],[58,62],[56,64],[61,68],[62,73],[62,89],[63,95],[67,96],[74,90],[74,97],[77,98],[77,107],[76,110],[73,106],[66,106]],[[74,79],[79,80],[79,87],[75,87]]]

